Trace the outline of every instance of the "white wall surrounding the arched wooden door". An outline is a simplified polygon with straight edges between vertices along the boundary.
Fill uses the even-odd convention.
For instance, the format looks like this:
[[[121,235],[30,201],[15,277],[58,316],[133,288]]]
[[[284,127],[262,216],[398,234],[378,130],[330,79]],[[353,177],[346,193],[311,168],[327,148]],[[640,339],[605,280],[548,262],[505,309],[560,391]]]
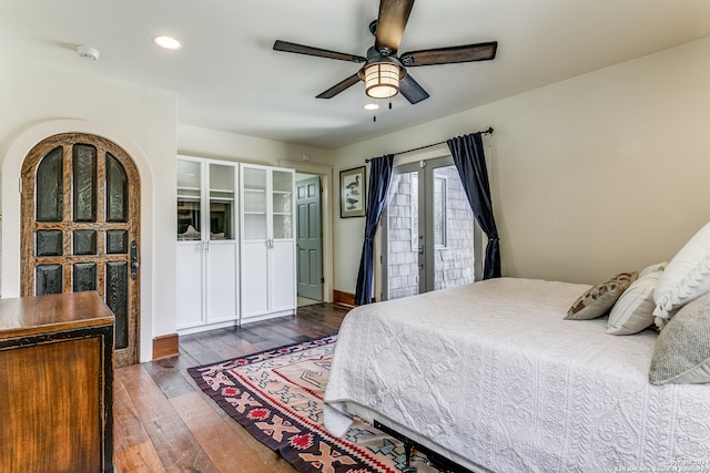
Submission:
[[[0,68],[2,297],[19,296],[19,172],[30,148],[63,132],[122,146],[141,174],[141,360],[175,331],[175,97],[172,93],[4,54]],[[155,176],[155,178],[153,178]]]

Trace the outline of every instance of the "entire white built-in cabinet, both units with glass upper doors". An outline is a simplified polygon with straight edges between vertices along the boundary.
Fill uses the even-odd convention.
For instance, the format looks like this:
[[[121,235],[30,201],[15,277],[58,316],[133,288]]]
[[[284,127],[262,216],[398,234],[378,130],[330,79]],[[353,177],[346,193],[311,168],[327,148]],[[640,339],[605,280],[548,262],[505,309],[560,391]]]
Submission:
[[[295,313],[293,169],[178,156],[176,328]]]

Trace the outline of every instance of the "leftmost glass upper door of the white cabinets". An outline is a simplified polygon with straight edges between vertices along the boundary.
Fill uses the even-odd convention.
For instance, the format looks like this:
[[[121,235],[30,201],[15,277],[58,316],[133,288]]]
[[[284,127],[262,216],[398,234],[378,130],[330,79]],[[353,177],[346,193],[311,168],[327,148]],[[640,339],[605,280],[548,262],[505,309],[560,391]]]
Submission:
[[[178,161],[178,239],[200,240],[202,162]]]

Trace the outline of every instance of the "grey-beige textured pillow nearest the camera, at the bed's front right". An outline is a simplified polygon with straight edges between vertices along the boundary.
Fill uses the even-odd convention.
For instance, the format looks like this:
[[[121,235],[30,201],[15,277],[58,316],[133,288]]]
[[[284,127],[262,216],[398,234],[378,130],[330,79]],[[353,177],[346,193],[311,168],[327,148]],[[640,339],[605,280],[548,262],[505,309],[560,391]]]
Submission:
[[[652,384],[710,382],[710,295],[683,306],[653,348]]]

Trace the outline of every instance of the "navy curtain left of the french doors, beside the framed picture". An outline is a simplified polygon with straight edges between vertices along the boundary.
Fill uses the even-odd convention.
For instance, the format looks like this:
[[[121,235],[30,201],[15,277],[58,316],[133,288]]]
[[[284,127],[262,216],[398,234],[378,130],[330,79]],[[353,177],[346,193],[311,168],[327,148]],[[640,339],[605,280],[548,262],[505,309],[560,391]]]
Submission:
[[[355,304],[358,306],[373,301],[373,238],[377,224],[387,204],[387,192],[392,182],[395,155],[388,154],[369,160],[369,186],[367,187],[367,209],[365,212],[365,241],[359,258]]]

